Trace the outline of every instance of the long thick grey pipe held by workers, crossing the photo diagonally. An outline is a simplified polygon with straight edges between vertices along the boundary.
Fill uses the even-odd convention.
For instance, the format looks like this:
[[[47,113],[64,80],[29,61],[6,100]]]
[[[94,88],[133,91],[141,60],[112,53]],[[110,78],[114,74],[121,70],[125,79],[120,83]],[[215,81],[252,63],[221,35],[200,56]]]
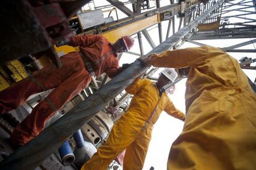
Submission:
[[[147,55],[151,53],[159,54],[171,49],[176,42],[186,36],[190,30],[197,26],[203,18],[207,17],[223,1],[216,2],[208,11],[195,18],[194,21],[148,52]],[[20,147],[14,154],[2,161],[0,163],[0,169],[35,169],[48,155],[53,153],[56,148],[59,148],[66,139],[78,131],[83,124],[88,123],[110,100],[120,94],[135,78],[142,75],[147,68],[147,66],[139,61],[132,63],[132,65],[126,68],[126,71],[122,71],[93,95],[47,127],[39,136],[35,137],[35,139],[23,147]]]

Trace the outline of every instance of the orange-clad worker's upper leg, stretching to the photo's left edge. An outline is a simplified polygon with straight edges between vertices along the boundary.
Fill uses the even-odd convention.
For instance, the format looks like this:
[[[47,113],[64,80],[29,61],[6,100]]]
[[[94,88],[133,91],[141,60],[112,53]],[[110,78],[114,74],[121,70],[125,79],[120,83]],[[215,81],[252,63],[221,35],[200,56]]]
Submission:
[[[65,55],[61,57],[61,68],[56,68],[51,64],[36,71],[32,76],[0,91],[0,114],[19,107],[32,94],[57,87],[72,73],[72,68],[76,68],[79,62],[83,63],[82,59],[79,58],[80,55],[75,53]],[[40,82],[43,87],[39,86],[35,81]]]

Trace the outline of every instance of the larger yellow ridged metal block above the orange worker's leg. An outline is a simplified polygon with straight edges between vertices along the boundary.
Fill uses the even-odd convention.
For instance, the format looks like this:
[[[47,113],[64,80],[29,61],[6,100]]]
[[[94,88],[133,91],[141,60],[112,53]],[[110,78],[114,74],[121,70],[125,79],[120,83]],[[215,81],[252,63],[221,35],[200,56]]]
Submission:
[[[9,68],[9,70],[11,70],[11,77],[15,82],[20,81],[28,76],[27,71],[19,60],[12,60],[11,62],[7,62],[6,66]]]

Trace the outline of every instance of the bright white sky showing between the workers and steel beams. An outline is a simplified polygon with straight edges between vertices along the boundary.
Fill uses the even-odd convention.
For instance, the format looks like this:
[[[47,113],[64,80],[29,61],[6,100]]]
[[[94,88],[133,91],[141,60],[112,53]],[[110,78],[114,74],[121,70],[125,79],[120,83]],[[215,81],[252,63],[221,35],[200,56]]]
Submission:
[[[164,6],[165,4],[169,4],[169,0],[162,0],[160,2],[161,2],[161,6]],[[100,1],[100,4],[97,4],[97,3],[98,1],[95,1],[96,6],[104,5],[102,4],[103,1]],[[128,6],[128,7],[131,9],[131,6]],[[252,11],[253,10],[254,9],[252,9]],[[106,15],[108,14],[105,14],[105,16]],[[118,15],[119,15],[119,18],[126,17],[126,15],[122,14],[122,12],[120,11],[118,12]],[[113,17],[115,18],[115,15],[113,15]],[[178,23],[179,23],[179,20],[176,18],[176,26],[179,25]],[[168,27],[167,25],[168,25],[168,22],[162,22],[163,39],[165,39],[165,36],[166,36],[166,30]],[[157,25],[154,25],[154,26],[151,26],[151,28],[148,28],[148,30],[150,30],[148,31],[148,33],[150,34],[151,38],[153,39],[153,41],[157,46],[159,44],[159,38],[158,38],[158,28],[156,26]],[[177,31],[177,28],[176,28],[176,31]],[[171,33],[170,33],[170,36],[171,36]],[[135,44],[131,51],[139,54],[140,53],[139,42],[137,41],[136,35],[133,37],[135,37]],[[241,39],[225,39],[225,40],[221,40],[221,42],[220,40],[211,40],[211,41],[205,40],[205,41],[198,41],[198,42],[201,42],[203,44],[207,44],[210,46],[215,46],[215,47],[228,47],[228,46],[237,44],[239,42],[245,42],[249,40],[250,39],[242,39],[242,40]],[[151,47],[144,36],[142,36],[142,42],[143,42],[144,53],[147,54],[147,52],[151,51]],[[254,43],[254,44],[250,44],[249,46],[241,47],[240,49],[247,49],[247,48],[255,49],[255,46],[256,44]],[[181,48],[186,48],[186,47],[197,47],[197,46],[194,44],[190,44],[189,42],[186,42]],[[253,59],[256,58],[255,54],[253,53],[229,53],[229,55],[233,56],[237,60],[245,56],[252,57]],[[138,56],[135,56],[135,55],[123,54],[120,60],[120,65],[122,65],[122,63],[132,63],[137,58]],[[254,81],[256,76],[255,70],[244,70],[244,72],[247,76],[249,76],[249,78],[252,81]],[[159,73],[156,73],[154,76],[158,76],[158,74]],[[176,91],[174,92],[174,94],[169,95],[169,98],[173,101],[176,108],[178,108],[183,112],[185,112],[185,99],[184,99],[185,90],[186,90],[185,83],[186,83],[186,79],[182,79],[182,81],[179,81],[179,83],[176,84]],[[183,125],[184,123],[182,121],[167,115],[163,111],[163,113],[160,115],[160,118],[158,119],[158,121],[156,122],[153,128],[150,146],[148,148],[148,153],[144,163],[143,170],[148,170],[150,169],[151,166],[153,166],[155,170],[166,169],[169,149],[171,147],[171,144],[181,133]]]

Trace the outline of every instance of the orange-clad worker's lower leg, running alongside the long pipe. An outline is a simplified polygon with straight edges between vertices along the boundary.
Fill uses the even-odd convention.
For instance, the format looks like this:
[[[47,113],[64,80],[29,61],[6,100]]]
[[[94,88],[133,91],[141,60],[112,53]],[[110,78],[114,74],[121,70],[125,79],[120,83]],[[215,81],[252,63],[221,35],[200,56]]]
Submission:
[[[43,131],[45,122],[53,116],[55,111],[88,86],[90,81],[91,77],[84,68],[81,73],[74,71],[70,78],[56,87],[46,99],[38,103],[32,113],[15,128],[11,135],[12,142],[23,145],[36,137]]]

